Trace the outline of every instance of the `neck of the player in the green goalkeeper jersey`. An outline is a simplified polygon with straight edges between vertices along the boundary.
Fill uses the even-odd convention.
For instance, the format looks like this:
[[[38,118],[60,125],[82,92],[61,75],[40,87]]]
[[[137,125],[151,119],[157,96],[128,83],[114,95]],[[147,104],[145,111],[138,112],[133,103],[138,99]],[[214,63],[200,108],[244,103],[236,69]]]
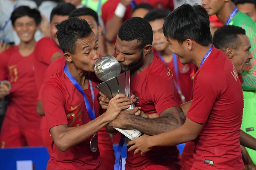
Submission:
[[[233,9],[236,7],[236,5],[234,5],[233,2],[226,2],[224,4],[224,7],[222,8],[222,10],[220,10],[216,16],[218,17],[218,19],[222,22],[222,23],[226,23],[228,20],[229,15],[231,14],[231,12],[233,11]]]

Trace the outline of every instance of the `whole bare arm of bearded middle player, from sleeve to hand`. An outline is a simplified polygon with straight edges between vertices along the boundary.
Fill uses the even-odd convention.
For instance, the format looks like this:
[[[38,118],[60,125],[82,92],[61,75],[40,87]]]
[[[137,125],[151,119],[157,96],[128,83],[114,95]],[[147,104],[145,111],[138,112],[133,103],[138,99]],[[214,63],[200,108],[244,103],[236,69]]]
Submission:
[[[148,135],[156,135],[177,128],[184,123],[184,115],[180,107],[165,109],[158,118],[145,118],[121,111],[119,116],[110,122],[116,128],[132,127]]]

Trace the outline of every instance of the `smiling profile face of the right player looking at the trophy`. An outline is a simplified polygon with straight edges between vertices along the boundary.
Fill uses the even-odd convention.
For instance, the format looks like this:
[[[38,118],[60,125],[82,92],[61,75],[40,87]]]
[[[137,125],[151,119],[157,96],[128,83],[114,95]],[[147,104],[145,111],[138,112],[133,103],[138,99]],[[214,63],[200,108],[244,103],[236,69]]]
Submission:
[[[180,44],[179,41],[174,40],[170,37],[168,37],[168,43],[169,43],[169,49],[172,51],[172,53],[177,55],[177,58],[180,59],[182,64],[188,64],[191,63],[190,58],[186,55],[186,48],[184,48],[184,43]]]

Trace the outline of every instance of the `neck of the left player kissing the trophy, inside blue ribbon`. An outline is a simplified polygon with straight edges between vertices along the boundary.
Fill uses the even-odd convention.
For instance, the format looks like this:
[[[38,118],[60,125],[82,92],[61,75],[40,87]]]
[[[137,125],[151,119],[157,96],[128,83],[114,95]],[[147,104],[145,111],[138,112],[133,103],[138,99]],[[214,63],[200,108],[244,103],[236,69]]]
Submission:
[[[83,89],[87,89],[88,88],[88,72],[76,68],[75,65],[70,62],[67,62],[67,68],[70,74],[80,84],[80,86]]]

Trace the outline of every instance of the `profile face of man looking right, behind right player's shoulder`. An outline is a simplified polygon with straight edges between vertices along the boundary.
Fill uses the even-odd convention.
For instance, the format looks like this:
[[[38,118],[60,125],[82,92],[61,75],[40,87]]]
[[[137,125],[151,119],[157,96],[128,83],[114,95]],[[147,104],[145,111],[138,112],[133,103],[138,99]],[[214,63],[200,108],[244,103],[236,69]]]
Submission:
[[[246,35],[238,35],[241,41],[241,45],[234,49],[234,55],[231,58],[232,63],[237,69],[238,74],[242,74],[246,63],[249,63],[252,59],[252,54],[249,51],[251,48],[250,40]]]

